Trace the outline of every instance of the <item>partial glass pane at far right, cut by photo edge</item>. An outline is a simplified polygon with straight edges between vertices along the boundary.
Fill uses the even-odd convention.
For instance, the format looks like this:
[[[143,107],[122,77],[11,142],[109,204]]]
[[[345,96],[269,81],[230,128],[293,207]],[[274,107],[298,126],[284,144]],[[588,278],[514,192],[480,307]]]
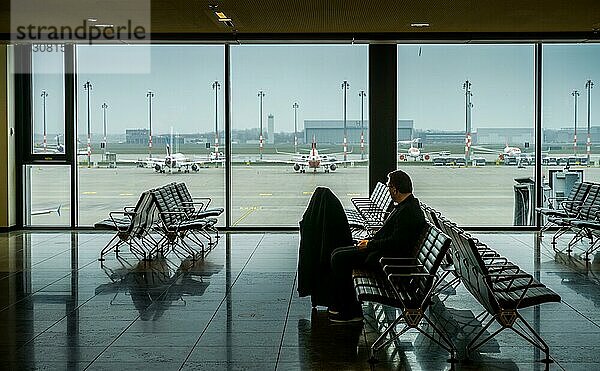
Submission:
[[[544,202],[556,206],[577,179],[600,181],[600,45],[544,45],[542,60]]]

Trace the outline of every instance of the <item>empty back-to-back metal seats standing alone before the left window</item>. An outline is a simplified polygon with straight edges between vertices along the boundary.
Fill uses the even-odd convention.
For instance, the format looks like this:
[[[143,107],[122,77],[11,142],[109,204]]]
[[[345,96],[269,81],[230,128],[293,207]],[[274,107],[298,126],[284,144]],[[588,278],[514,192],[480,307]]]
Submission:
[[[219,233],[216,217],[223,208],[208,208],[211,199],[193,198],[185,183],[170,183],[145,191],[134,207],[112,211],[94,225],[116,232],[100,252],[100,261],[123,245],[142,259],[158,254],[183,253],[195,259],[216,246]]]

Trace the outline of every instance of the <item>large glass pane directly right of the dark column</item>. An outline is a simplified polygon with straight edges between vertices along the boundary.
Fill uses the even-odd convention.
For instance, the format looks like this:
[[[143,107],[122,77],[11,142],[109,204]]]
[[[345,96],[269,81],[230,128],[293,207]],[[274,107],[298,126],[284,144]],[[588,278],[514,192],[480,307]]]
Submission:
[[[461,225],[532,223],[534,83],[533,45],[399,45],[398,166],[415,195]]]

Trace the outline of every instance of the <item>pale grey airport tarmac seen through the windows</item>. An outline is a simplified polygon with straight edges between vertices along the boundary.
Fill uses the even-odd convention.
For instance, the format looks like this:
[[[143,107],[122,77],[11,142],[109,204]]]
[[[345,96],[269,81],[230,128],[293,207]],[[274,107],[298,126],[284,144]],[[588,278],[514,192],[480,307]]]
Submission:
[[[461,225],[513,225],[515,178],[533,177],[533,167],[487,165],[437,167],[399,163],[413,178],[415,195]],[[552,167],[559,169],[559,167]],[[584,168],[585,180],[600,181],[600,168]],[[548,168],[544,167],[544,173]],[[232,166],[234,226],[297,226],[317,186],[331,188],[345,207],[352,197],[368,195],[367,166],[341,167],[334,173],[295,173],[291,166]],[[92,225],[110,211],[135,205],[146,189],[169,182],[185,182],[192,195],[212,198],[211,206],[224,207],[224,169],[202,168],[197,173],[161,174],[137,167],[79,168],[79,225]],[[67,167],[31,167],[31,210],[52,212],[31,217],[32,225],[67,225],[69,202]],[[382,179],[385,181],[385,179]],[[221,217],[220,224],[224,225]]]

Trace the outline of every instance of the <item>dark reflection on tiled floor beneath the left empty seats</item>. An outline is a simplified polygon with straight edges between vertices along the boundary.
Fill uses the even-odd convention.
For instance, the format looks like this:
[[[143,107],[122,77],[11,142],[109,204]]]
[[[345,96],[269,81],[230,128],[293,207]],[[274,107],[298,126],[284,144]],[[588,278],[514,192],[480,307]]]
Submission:
[[[113,295],[111,305],[119,304],[120,295],[129,295],[142,321],[157,320],[173,305],[185,305],[185,296],[204,294],[211,275],[223,266],[206,260],[176,262],[157,258],[132,265],[118,259],[119,265],[102,270],[112,282],[96,287],[96,295]]]

